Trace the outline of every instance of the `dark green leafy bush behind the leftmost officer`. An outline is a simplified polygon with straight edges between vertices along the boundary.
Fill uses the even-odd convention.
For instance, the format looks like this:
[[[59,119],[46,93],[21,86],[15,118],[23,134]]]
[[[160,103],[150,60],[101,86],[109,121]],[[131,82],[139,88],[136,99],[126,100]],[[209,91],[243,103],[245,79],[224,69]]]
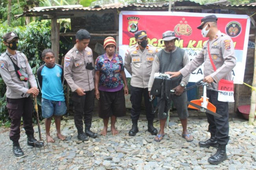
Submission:
[[[0,25],[0,37],[9,31],[15,31],[20,40],[18,50],[22,51],[28,58],[30,66],[35,74],[37,68],[43,64],[41,53],[45,48],[51,47],[50,41],[50,22],[32,22],[26,27],[9,27]],[[6,46],[0,43],[0,53],[6,51]],[[6,85],[0,77],[0,120],[9,120],[6,110]],[[41,110],[41,109],[40,109]]]

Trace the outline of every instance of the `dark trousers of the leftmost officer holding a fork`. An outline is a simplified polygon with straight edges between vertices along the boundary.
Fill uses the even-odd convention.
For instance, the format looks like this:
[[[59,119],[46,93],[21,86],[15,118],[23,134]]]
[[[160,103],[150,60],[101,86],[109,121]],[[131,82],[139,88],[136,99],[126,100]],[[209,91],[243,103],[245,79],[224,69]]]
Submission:
[[[31,97],[20,99],[7,98],[6,107],[8,109],[9,117],[11,118],[11,141],[19,141],[20,139],[20,122],[23,120],[23,128],[27,135],[34,134],[32,112],[33,104]]]

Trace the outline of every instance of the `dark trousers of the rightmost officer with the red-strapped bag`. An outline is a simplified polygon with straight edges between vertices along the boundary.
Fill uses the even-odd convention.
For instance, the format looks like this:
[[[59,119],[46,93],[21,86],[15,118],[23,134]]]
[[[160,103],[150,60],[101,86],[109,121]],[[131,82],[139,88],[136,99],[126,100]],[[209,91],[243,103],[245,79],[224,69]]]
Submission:
[[[206,113],[209,123],[208,130],[211,135],[215,135],[219,144],[227,144],[229,140],[228,132],[228,102],[218,101],[218,92],[207,90],[209,101],[217,108],[217,112],[222,117],[215,117]]]

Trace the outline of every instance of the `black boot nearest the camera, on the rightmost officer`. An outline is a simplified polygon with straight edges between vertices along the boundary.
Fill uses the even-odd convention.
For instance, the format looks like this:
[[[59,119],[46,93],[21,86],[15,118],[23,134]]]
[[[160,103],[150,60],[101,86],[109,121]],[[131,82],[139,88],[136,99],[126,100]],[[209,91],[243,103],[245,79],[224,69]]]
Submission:
[[[208,162],[214,165],[221,163],[227,159],[226,144],[220,144],[217,152],[209,157]]]

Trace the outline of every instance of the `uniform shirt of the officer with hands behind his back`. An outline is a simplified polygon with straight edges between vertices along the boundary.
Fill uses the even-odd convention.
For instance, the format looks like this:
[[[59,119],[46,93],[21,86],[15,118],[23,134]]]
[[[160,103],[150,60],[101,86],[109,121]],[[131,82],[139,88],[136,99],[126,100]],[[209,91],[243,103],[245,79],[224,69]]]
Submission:
[[[158,52],[156,47],[148,44],[141,51],[138,44],[127,50],[125,54],[124,67],[132,75],[131,86],[147,88],[150,78],[154,56]]]

